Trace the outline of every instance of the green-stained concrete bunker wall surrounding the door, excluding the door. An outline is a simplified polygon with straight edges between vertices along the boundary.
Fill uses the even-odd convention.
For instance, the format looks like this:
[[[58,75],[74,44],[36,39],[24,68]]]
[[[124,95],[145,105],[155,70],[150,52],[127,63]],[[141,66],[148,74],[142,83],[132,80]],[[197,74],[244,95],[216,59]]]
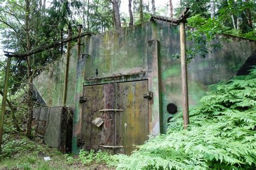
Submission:
[[[68,107],[75,108],[74,144],[80,133],[79,97],[83,94],[83,85],[138,80],[138,77],[123,75],[146,72],[149,89],[154,91],[153,100],[156,101],[152,102],[150,113],[152,134],[160,132],[161,128],[165,131],[167,119],[174,116],[167,112],[167,104],[174,103],[178,106],[178,112],[181,111],[180,60],[172,57],[180,51],[178,26],[148,22],[133,28],[124,28],[119,32],[85,37],[82,55],[79,57],[76,49],[77,47],[73,47],[71,51],[66,102]],[[255,42],[234,40],[223,43],[221,49],[213,50],[205,58],[193,59],[188,64],[190,106],[195,105],[205,95],[207,85],[233,77],[254,50]],[[65,57],[50,65],[49,69],[34,81],[38,92],[49,106],[62,104],[64,62]],[[96,69],[99,72],[98,78]]]

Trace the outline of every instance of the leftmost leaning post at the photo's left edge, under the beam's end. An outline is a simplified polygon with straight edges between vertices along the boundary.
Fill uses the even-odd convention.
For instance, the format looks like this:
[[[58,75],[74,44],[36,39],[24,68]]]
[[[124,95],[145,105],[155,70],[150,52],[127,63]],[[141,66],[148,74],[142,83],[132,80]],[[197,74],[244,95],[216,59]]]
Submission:
[[[4,78],[4,92],[3,92],[2,108],[1,108],[1,115],[0,115],[0,152],[2,151],[4,113],[5,113],[5,106],[6,106],[6,99],[7,99],[7,90],[8,90],[8,83],[9,83],[10,66],[11,66],[11,57],[8,57],[7,58],[7,63],[6,63],[6,72],[5,72],[5,78]]]

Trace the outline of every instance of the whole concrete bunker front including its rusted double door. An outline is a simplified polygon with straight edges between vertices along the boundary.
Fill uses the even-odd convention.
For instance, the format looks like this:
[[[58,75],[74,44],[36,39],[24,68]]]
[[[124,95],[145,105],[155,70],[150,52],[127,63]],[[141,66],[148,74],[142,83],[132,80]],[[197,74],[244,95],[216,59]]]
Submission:
[[[222,45],[188,65],[191,106],[207,85],[232,78],[255,56],[250,40]],[[79,56],[76,49],[71,50],[66,101],[73,108],[73,153],[101,148],[129,154],[148,135],[166,132],[167,121],[181,111],[180,61],[172,57],[179,53],[177,26],[148,22],[84,37]],[[33,82],[49,107],[62,105],[64,66],[65,56]],[[170,114],[169,104],[177,112]]]

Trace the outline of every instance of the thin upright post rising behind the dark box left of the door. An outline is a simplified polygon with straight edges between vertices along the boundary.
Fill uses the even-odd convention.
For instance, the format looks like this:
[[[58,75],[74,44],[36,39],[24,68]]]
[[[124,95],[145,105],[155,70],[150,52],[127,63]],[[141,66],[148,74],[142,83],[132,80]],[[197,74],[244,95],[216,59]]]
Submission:
[[[71,38],[71,29],[69,29],[68,38]],[[70,42],[68,42],[67,50],[66,50],[66,66],[65,66],[64,90],[63,90],[63,100],[62,100],[63,106],[66,106],[66,90],[68,87],[68,76],[69,76],[69,57],[70,57]]]

